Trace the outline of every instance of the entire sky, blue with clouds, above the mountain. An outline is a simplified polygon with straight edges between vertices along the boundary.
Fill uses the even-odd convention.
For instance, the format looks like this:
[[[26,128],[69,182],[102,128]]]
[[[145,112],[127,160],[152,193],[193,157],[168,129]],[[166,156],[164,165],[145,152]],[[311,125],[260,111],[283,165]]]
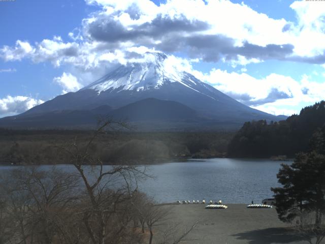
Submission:
[[[0,117],[145,51],[248,106],[298,113],[325,94],[324,19],[325,2],[304,0],[0,2]]]

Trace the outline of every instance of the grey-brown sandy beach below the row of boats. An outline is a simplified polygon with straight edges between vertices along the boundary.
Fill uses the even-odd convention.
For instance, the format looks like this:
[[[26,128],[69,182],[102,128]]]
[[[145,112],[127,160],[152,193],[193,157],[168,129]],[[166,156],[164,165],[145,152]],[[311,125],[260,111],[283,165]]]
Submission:
[[[205,209],[205,204],[173,205],[169,221],[186,226],[201,221],[181,243],[308,243],[278,219],[275,208],[225,205],[227,209]]]

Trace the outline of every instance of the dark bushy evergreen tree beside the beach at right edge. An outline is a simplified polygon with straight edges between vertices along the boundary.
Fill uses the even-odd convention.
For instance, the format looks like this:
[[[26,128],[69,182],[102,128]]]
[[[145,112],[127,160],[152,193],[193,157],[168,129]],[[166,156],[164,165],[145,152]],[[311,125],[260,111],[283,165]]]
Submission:
[[[281,166],[277,178],[283,187],[271,188],[279,219],[291,222],[304,211],[314,211],[315,224],[321,224],[325,211],[325,156],[312,151],[297,155],[291,165]]]

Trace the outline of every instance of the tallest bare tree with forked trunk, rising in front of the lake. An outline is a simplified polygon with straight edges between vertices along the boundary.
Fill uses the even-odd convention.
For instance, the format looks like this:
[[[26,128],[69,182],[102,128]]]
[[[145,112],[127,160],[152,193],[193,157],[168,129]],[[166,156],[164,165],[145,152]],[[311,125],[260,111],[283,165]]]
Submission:
[[[124,125],[112,121],[102,123],[85,148],[80,148],[77,140],[62,147],[68,154],[69,163],[79,172],[86,189],[87,204],[80,214],[92,243],[104,244],[108,239],[119,240],[123,236],[132,220],[130,216],[124,215],[127,212],[126,203],[131,201],[137,190],[138,180],[147,177],[145,167],[104,166],[101,159],[93,158],[89,153],[93,141],[105,133],[107,128],[116,126]],[[90,173],[87,172],[89,169]],[[121,216],[125,218],[121,220]]]

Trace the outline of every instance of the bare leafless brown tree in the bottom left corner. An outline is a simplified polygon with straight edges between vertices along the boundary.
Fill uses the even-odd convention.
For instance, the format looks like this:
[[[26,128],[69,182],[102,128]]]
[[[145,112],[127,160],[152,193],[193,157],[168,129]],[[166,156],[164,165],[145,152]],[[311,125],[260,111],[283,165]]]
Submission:
[[[78,200],[78,176],[55,168],[24,168],[11,171],[2,180],[2,189],[7,195],[13,242],[55,243],[57,238],[67,237],[62,230],[69,229],[65,220]],[[66,239],[65,243],[75,241]]]

